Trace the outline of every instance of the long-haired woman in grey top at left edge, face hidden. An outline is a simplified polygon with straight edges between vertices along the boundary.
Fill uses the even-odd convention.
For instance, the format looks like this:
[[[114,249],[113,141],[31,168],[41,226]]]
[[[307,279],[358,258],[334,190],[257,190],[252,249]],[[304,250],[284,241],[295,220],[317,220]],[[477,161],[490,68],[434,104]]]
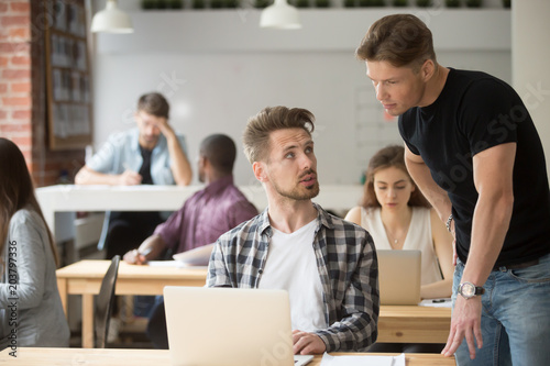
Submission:
[[[23,154],[0,137],[0,351],[68,347],[56,264]]]

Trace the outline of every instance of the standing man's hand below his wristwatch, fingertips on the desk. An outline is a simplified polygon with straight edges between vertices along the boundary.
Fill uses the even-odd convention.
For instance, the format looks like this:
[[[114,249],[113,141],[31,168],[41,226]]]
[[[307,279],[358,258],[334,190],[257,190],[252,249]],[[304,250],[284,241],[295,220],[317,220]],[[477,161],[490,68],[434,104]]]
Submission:
[[[452,356],[465,336],[468,348],[470,350],[470,358],[475,358],[474,337],[477,347],[481,348],[483,346],[481,311],[481,296],[468,300],[461,295],[458,296],[452,311],[451,331],[449,332],[447,345],[443,351],[441,351],[442,355],[446,357]]]

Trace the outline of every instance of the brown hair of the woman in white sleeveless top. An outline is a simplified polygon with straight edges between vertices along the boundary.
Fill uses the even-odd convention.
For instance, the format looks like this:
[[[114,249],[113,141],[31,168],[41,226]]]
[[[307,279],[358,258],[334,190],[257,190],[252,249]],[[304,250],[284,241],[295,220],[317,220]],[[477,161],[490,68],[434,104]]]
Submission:
[[[362,207],[365,209],[381,207],[378,200],[376,199],[376,193],[374,192],[374,175],[376,171],[389,167],[395,167],[405,171],[409,177],[410,182],[416,187],[416,189],[410,193],[408,206],[431,208],[430,202],[428,202],[422,192],[420,192],[420,189],[418,189],[413,181],[413,178],[410,178],[407,166],[405,165],[405,148],[399,145],[389,145],[380,149],[369,162],[363,198],[361,199]]]

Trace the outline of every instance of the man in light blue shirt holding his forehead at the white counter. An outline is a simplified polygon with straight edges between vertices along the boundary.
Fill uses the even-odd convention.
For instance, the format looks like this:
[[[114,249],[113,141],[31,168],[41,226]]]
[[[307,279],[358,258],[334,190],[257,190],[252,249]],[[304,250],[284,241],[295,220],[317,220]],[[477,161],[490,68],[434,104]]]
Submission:
[[[143,95],[134,115],[138,127],[113,134],[75,177],[77,185],[178,185],[193,178],[185,140],[168,124],[169,104],[157,92]],[[99,248],[107,258],[123,255],[164,222],[160,212],[110,212]],[[107,229],[107,230],[106,230]]]

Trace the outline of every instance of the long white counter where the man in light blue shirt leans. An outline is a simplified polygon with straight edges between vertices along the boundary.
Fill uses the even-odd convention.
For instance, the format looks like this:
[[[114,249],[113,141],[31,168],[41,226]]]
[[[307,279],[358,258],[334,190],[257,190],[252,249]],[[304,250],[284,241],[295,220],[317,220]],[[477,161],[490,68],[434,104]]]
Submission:
[[[36,189],[44,218],[54,236],[59,241],[61,230],[70,230],[72,223],[55,224],[56,212],[75,211],[176,211],[185,200],[204,186],[73,186],[58,185]],[[246,198],[262,211],[267,206],[263,187],[239,187]],[[323,186],[314,199],[324,209],[349,210],[363,195],[361,185]],[[70,234],[70,233],[69,233]],[[66,235],[65,235],[66,236]]]

